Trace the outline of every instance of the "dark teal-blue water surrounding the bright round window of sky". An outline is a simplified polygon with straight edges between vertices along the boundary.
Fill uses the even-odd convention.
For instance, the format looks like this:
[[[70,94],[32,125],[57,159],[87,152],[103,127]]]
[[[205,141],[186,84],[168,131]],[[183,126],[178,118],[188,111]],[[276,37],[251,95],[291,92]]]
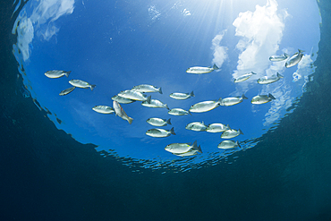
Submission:
[[[0,3],[0,220],[331,220],[329,1],[318,3],[314,81],[293,114],[233,164],[178,174],[132,173],[55,128],[22,93],[12,4]]]

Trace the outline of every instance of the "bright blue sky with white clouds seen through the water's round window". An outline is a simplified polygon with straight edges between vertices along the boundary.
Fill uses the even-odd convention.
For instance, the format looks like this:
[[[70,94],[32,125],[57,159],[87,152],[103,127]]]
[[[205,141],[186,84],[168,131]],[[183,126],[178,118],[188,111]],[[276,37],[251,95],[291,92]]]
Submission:
[[[30,7],[32,5],[32,7]],[[178,158],[164,150],[172,142],[198,140],[204,154],[196,161],[220,156],[220,134],[191,132],[187,123],[229,123],[244,135],[233,140],[259,138],[262,129],[277,123],[286,108],[301,96],[305,78],[313,72],[310,63],[318,51],[320,17],[318,5],[305,1],[30,1],[20,13],[19,62],[24,65],[32,97],[53,115],[57,128],[98,150],[115,149],[120,157]],[[14,46],[14,48],[17,48]],[[285,69],[284,62],[271,63],[270,55],[293,55],[305,51],[299,65]],[[314,52],[315,57],[311,55]],[[188,67],[216,63],[220,70],[203,75],[188,74]],[[48,79],[44,72],[72,71],[69,78]],[[257,72],[248,81],[234,84],[233,77]],[[284,79],[258,85],[259,77],[280,72]],[[296,77],[293,78],[293,74]],[[96,84],[93,91],[71,87],[71,79]],[[150,94],[170,108],[189,109],[205,100],[248,97],[236,106],[220,106],[208,113],[168,115],[166,109],[123,105],[132,125],[115,115],[101,115],[91,108],[112,106],[111,97],[123,89],[147,83],[162,87],[164,94]],[[188,100],[174,100],[172,92],[191,92]],[[258,94],[272,93],[276,100],[262,106],[250,104]],[[59,124],[55,115],[62,120]],[[150,138],[149,117],[172,118],[175,136]],[[166,127],[167,130],[171,126]]]

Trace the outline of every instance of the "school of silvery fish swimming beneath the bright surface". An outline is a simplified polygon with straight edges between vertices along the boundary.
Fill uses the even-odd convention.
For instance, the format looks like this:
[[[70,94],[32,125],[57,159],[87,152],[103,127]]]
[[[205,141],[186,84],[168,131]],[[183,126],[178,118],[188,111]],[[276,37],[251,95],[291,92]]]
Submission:
[[[287,55],[284,53],[284,55],[271,55],[269,57],[269,60],[271,62],[281,62],[286,60],[285,67],[290,68],[293,67],[296,64],[299,64],[301,61],[301,58],[303,56],[304,51],[299,49],[299,52],[295,53],[290,57],[290,55]],[[202,66],[193,66],[186,70],[188,73],[192,74],[203,74],[208,72],[213,72],[215,70],[218,70],[219,68],[214,64],[212,67],[202,67]],[[60,71],[60,70],[52,70],[45,72],[45,75],[48,78],[55,79],[60,78],[63,76],[69,77],[69,72]],[[238,78],[234,79],[234,83],[240,83],[242,81],[248,80],[252,75],[257,74],[255,72],[249,72],[245,73],[242,76],[239,76]],[[259,84],[270,84],[276,81],[281,80],[284,78],[283,75],[280,73],[276,73],[272,76],[263,76],[259,78],[257,83]],[[70,80],[69,83],[72,85],[71,88],[62,90],[59,95],[65,96],[71,93],[76,88],[81,89],[90,89],[93,90],[96,88],[95,84],[90,84],[87,81],[82,80]],[[113,99],[113,107],[112,106],[93,106],[92,110],[94,110],[97,113],[105,114],[105,115],[111,115],[115,114],[116,116],[121,117],[123,120],[127,121],[128,123],[132,124],[133,118],[126,115],[125,111],[123,110],[123,107],[120,104],[131,104],[136,101],[141,101],[142,106],[147,107],[154,107],[154,108],[165,108],[168,110],[169,115],[191,115],[191,113],[204,113],[211,111],[215,109],[218,106],[233,106],[242,103],[244,99],[248,99],[245,97],[245,95],[242,95],[241,97],[233,97],[233,98],[219,98],[218,100],[207,100],[202,101],[199,103],[196,103],[191,106],[189,110],[184,110],[182,108],[172,108],[170,109],[166,104],[164,104],[162,101],[157,99],[152,99],[151,96],[147,96],[145,93],[149,92],[157,92],[160,94],[163,94],[161,88],[157,88],[156,86],[152,86],[149,84],[140,84],[134,86],[132,89],[125,89],[123,91],[120,91],[117,95],[112,97]],[[184,100],[188,98],[193,98],[194,93],[193,91],[182,93],[182,92],[174,92],[171,93],[170,98],[174,98],[177,100]],[[254,105],[261,105],[266,104],[267,102],[270,102],[272,100],[276,99],[272,94],[267,95],[257,95],[253,98],[251,98],[251,104]],[[166,125],[171,125],[171,118],[169,119],[162,119],[157,117],[151,117],[147,119],[146,121],[152,126],[155,127],[164,127]],[[192,122],[188,123],[185,126],[185,129],[191,130],[194,132],[222,132],[221,138],[222,139],[233,139],[241,134],[243,134],[241,129],[234,130],[232,129],[229,124],[223,124],[223,123],[210,123],[205,124],[204,122]],[[152,128],[149,129],[146,132],[146,135],[153,137],[153,138],[165,138],[171,135],[175,135],[174,127],[171,128],[171,130],[165,130],[162,128]],[[234,140],[223,140],[221,141],[217,148],[218,149],[234,149],[234,148],[241,148],[238,141]],[[174,154],[175,156],[179,157],[188,157],[188,156],[194,156],[199,153],[202,153],[201,147],[198,146],[197,140],[191,143],[172,143],[165,147],[165,150]]]

